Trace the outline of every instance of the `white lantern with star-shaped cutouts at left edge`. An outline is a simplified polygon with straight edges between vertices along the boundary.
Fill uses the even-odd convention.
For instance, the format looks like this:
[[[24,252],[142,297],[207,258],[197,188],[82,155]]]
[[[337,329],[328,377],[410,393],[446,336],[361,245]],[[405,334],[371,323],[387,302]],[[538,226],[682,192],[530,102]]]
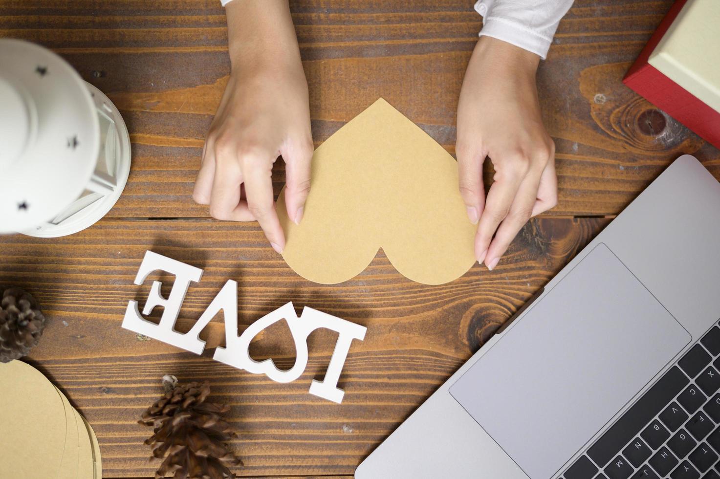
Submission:
[[[0,39],[0,233],[84,230],[129,173],[130,137],[114,104],[50,50]]]

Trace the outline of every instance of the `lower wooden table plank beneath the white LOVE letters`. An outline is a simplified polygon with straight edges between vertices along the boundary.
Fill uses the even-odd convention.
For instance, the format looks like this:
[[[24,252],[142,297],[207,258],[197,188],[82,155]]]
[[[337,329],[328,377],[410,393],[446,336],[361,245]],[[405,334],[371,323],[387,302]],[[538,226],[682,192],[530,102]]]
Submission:
[[[351,475],[454,370],[608,223],[542,218],[529,223],[493,272],[475,265],[447,285],[411,282],[379,251],[358,277],[316,285],[284,264],[250,224],[212,220],[102,220],[65,238],[0,236],[0,288],[32,292],[50,322],[30,362],[88,418],[102,449],[106,477],[150,477],[150,429],[137,424],[161,392],[160,379],[209,380],[215,400],[232,406],[243,476]],[[336,336],[312,333],[302,377],[281,385],[120,328],[128,300],[143,304],[150,281],[132,284],[146,250],[204,268],[181,311],[187,331],[227,279],[239,284],[239,328],[287,301],[368,327],[351,348],[341,405],[309,395],[323,375]],[[163,277],[171,282],[171,277]],[[157,315],[155,315],[157,317]],[[204,332],[222,342],[222,318]],[[294,363],[282,325],[264,331],[251,354]]]

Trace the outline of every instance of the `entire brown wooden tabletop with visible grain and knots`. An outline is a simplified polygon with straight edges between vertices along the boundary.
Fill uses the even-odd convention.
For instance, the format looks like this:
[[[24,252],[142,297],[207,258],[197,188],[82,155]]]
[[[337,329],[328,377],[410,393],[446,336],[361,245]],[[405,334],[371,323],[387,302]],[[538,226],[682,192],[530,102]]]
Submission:
[[[107,218],[66,238],[0,237],[0,287],[36,295],[50,318],[30,362],[89,419],[104,475],[153,475],[140,413],[163,374],[209,380],[232,406],[243,476],[349,476],[356,465],[503,321],[682,153],[720,178],[720,153],[621,84],[670,0],[576,0],[539,71],[557,144],[559,205],[531,220],[495,271],[448,285],[413,283],[382,251],[355,279],[315,285],[294,274],[255,223],[208,218],[190,194],[204,135],[228,79],[218,0],[2,0],[0,37],[39,42],[105,91],[125,117],[132,172]],[[480,30],[472,0],[291,1],[315,143],[384,97],[454,153],[459,87]],[[490,181],[490,171],[487,172]],[[282,187],[279,166],[275,186]],[[669,193],[670,194],[670,193]],[[278,385],[120,328],[146,250],[205,270],[181,312],[189,328],[226,279],[236,279],[240,330],[287,301],[368,327],[354,343],[336,406],[307,394],[335,337],[310,336],[305,374]],[[216,318],[208,329],[222,335]],[[217,321],[217,322],[216,322]],[[294,362],[280,326],[253,357]],[[428,460],[433,458],[428,457]]]

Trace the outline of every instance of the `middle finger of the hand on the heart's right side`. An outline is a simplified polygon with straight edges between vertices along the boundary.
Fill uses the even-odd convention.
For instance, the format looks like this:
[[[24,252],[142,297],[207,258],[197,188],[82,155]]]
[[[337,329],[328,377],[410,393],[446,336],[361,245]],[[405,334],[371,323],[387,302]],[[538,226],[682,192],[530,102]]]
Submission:
[[[495,238],[492,239],[490,247],[487,249],[485,264],[490,271],[498,265],[500,256],[508,251],[510,243],[530,219],[537,198],[539,181],[538,176],[526,176],[521,183],[513,205],[510,206],[508,216],[505,217],[503,223],[500,223],[498,232],[495,233]]]

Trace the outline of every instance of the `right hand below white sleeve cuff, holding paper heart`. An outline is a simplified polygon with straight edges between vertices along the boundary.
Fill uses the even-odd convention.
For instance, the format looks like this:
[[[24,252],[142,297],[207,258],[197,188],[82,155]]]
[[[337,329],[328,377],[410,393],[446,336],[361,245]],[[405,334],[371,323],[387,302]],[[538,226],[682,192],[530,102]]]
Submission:
[[[538,63],[534,53],[480,37],[460,92],[460,192],[470,221],[478,223],[475,256],[491,270],[528,219],[557,204],[555,146],[542,123],[535,84]],[[495,168],[487,200],[486,156]]]

